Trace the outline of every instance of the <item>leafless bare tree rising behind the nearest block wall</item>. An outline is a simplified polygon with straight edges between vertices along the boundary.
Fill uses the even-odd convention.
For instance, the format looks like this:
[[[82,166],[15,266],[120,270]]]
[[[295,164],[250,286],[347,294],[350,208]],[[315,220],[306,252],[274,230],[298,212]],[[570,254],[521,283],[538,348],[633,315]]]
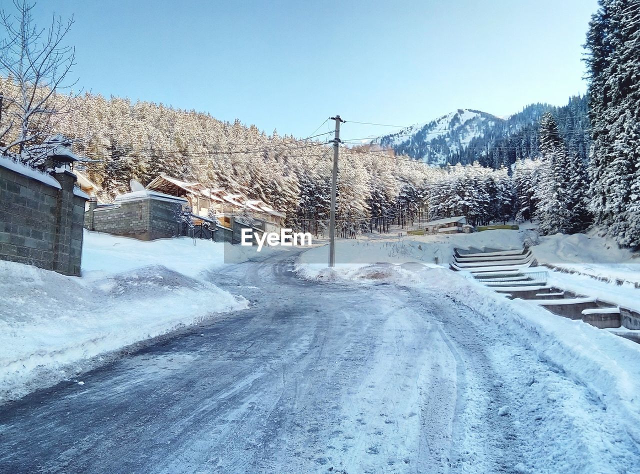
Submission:
[[[68,81],[76,49],[65,45],[74,19],[63,22],[54,14],[49,28],[40,29],[33,24],[35,3],[13,0],[13,7],[13,14],[0,9],[0,29],[6,33],[0,41],[0,75],[15,86],[14,95],[1,96],[0,153],[37,166],[46,155],[43,144],[60,132],[61,120],[84,103],[79,99],[82,90],[61,93],[78,82]],[[83,138],[70,143],[78,141]]]

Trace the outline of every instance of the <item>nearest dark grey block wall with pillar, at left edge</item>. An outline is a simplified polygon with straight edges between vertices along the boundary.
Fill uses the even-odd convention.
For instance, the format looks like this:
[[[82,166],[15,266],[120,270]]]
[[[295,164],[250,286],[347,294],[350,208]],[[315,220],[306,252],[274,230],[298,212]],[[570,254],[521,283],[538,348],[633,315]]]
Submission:
[[[0,258],[79,276],[86,197],[74,193],[69,171],[53,176],[60,189],[54,180],[0,166]]]

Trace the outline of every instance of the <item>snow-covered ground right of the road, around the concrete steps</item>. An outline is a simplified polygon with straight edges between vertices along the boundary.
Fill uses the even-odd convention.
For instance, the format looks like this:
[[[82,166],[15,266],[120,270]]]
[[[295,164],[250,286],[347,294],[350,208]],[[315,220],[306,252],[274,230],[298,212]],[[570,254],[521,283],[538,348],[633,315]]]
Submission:
[[[502,235],[493,232],[502,232]],[[511,237],[506,232],[511,232]],[[492,233],[492,241],[488,243],[488,235],[484,233]],[[297,271],[303,278],[316,281],[358,281],[360,285],[388,284],[411,288],[415,295],[431,298],[435,295],[446,296],[470,308],[477,318],[477,324],[481,324],[489,333],[504,335],[511,341],[508,346],[497,344],[488,349],[493,363],[502,365],[504,373],[510,370],[513,374],[511,381],[507,383],[502,379],[500,384],[513,386],[518,377],[529,374],[526,375],[530,377],[529,390],[519,406],[500,409],[511,413],[511,416],[515,416],[514,411],[520,415],[527,413],[524,418],[519,416],[517,422],[535,433],[534,437],[548,437],[548,454],[557,464],[553,464],[553,468],[538,465],[533,471],[575,471],[576,466],[580,466],[579,455],[573,452],[576,446],[580,446],[585,455],[584,463],[577,469],[579,471],[628,471],[634,464],[619,465],[614,459],[622,460],[629,455],[636,461],[640,459],[640,399],[637,397],[637,393],[640,393],[640,345],[580,320],[559,317],[529,301],[506,299],[468,274],[434,268],[435,265],[430,262],[427,265],[420,263],[428,260],[420,258],[422,255],[433,254],[433,246],[441,246],[443,253],[449,253],[452,246],[518,248],[522,244],[520,239],[526,236],[526,233],[520,233],[518,237],[518,233],[512,231],[490,231],[451,236],[445,241],[442,237],[438,237],[437,241],[434,241],[435,237],[419,237],[404,244],[340,242],[337,246],[339,264],[335,269],[326,269],[315,263],[326,257],[326,249],[317,248],[301,256]],[[582,248],[583,253],[592,252],[595,257],[600,248],[607,245],[605,239],[598,237],[588,239],[591,242],[580,242],[583,239],[586,237],[575,235],[541,239],[543,247],[540,255],[554,262],[562,260],[574,265],[570,262],[568,249]],[[452,241],[456,243],[453,245]],[[404,251],[399,252],[400,248]],[[533,247],[536,257],[537,249]],[[612,251],[610,258],[620,262],[624,256],[630,258],[630,253],[619,251],[616,255]],[[607,269],[615,272],[617,265],[613,262],[603,264],[601,273],[606,274]],[[635,268],[629,267],[630,276],[638,278]],[[637,288],[617,286],[585,275],[555,271],[550,275],[550,283],[561,288],[614,299],[628,308],[639,308],[637,301],[640,301],[640,290]],[[522,349],[517,347],[536,354],[538,361],[550,365],[562,377],[553,380],[554,377],[547,374],[547,379],[544,379],[540,367],[529,365],[524,359],[522,365],[514,365],[514,358],[522,356]],[[586,404],[585,397],[593,404]],[[550,425],[540,422],[548,418],[554,419]],[[594,423],[600,424],[596,426]],[[568,436],[570,425],[581,433],[582,438]],[[620,434],[616,434],[618,430]],[[632,439],[622,451],[621,445],[617,444],[621,433],[628,434]],[[563,438],[566,445],[558,447],[557,441]],[[603,455],[603,450],[608,454]],[[516,470],[523,472],[531,468],[531,464],[527,465],[526,462],[519,468],[516,466]]]

